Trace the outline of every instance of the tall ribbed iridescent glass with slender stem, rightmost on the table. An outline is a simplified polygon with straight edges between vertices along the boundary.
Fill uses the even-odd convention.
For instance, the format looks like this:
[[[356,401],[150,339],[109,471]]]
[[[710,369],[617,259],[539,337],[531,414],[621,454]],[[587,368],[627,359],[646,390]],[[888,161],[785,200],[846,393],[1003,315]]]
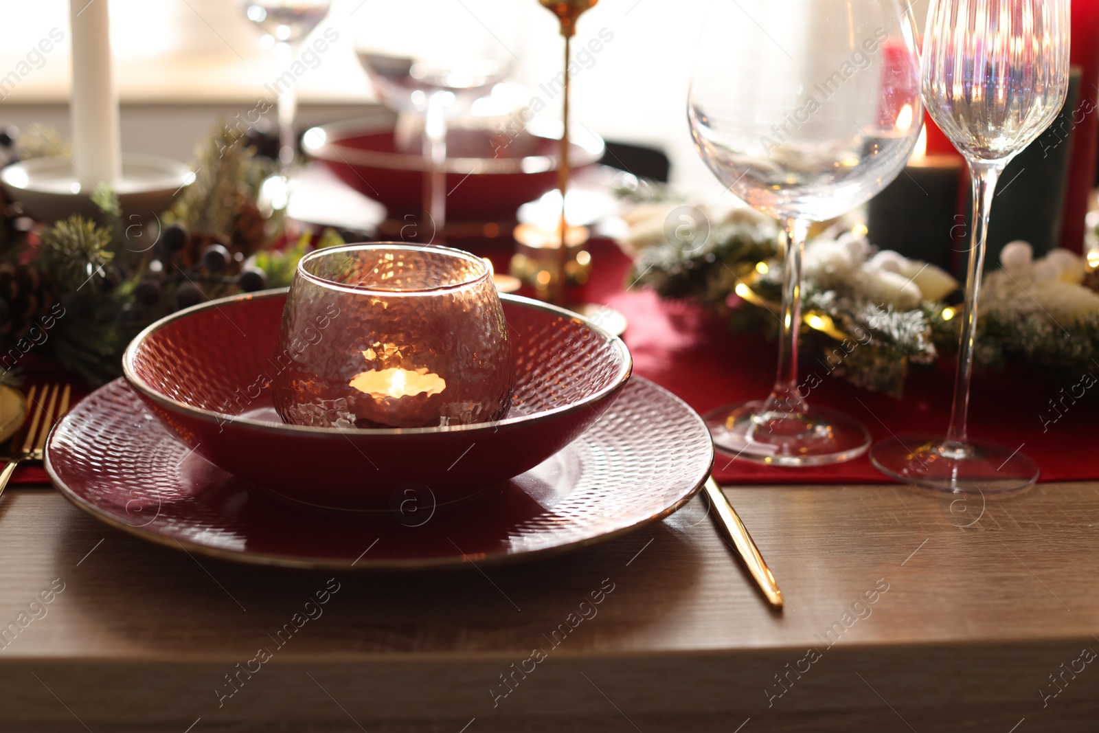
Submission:
[[[946,437],[901,436],[874,446],[882,473],[925,489],[1004,493],[1037,480],[1020,452],[966,432],[985,237],[996,182],[1011,158],[1057,116],[1068,89],[1068,0],[935,0],[923,40],[923,98],[965,156],[973,231]]]

